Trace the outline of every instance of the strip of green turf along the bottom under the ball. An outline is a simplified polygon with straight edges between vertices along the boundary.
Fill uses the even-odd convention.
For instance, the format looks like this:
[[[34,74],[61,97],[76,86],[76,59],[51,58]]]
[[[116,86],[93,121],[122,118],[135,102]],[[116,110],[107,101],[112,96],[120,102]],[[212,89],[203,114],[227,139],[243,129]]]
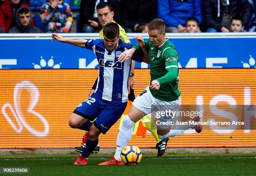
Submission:
[[[137,166],[97,166],[111,155],[94,154],[88,165],[74,166],[77,155],[0,155],[1,168],[28,168],[38,176],[255,176],[256,154],[144,154]],[[15,174],[0,174],[15,175]],[[16,174],[17,175],[17,174]],[[18,174],[24,175],[24,174]]]

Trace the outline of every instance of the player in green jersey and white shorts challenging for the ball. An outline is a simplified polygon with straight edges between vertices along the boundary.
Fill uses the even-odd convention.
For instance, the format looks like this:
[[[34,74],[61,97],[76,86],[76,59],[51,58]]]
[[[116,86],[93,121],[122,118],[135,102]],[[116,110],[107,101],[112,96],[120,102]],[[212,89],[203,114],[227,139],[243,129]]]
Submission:
[[[144,42],[141,36],[135,36],[138,44],[133,48],[123,52],[118,60],[120,62],[130,59],[135,52],[139,52],[147,57],[150,64],[151,81],[148,87],[136,97],[127,115],[123,118],[123,124],[118,132],[117,147],[115,156],[109,161],[99,165],[115,165],[120,161],[120,154],[123,147],[131,139],[134,124],[153,111],[164,112],[172,110],[175,112],[179,108],[179,96],[181,92],[178,89],[179,82],[179,55],[168,39],[165,38],[164,21],[156,18],[148,24],[149,40]],[[143,60],[145,62],[145,60]],[[153,107],[153,108],[152,108]],[[165,116],[166,117],[166,116]],[[160,122],[165,122],[160,117]],[[172,117],[178,120],[178,116]],[[194,117],[189,121],[199,122],[199,117]],[[159,138],[177,136],[189,128],[194,128],[197,132],[202,131],[202,125],[187,123],[187,125],[177,126],[174,124],[160,123],[157,126]]]

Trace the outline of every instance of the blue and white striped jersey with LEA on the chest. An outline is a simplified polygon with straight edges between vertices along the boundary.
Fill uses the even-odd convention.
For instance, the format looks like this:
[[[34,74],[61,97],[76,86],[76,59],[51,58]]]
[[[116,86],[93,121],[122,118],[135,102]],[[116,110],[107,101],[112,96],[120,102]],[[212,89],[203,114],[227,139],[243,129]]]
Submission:
[[[99,63],[99,76],[95,93],[102,99],[112,102],[128,101],[128,76],[131,59],[119,62],[119,55],[132,47],[131,44],[119,40],[118,47],[109,52],[102,39],[89,40],[85,47],[92,50]],[[134,54],[133,60],[141,62],[141,57]]]

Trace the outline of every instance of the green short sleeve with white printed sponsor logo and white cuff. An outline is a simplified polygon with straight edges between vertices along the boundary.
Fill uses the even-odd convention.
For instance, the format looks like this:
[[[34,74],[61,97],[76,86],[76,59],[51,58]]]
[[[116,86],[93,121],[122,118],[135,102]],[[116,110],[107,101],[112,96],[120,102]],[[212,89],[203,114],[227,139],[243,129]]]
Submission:
[[[165,61],[165,69],[176,67],[178,68],[178,53],[177,51],[172,47],[167,47],[163,53],[162,57]]]

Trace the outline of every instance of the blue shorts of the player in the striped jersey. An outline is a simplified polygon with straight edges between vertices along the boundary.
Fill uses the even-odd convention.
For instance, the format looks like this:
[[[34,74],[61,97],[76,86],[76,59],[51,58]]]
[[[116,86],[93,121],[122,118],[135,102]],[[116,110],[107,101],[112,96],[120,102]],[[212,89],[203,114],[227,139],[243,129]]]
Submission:
[[[105,134],[122,116],[126,106],[127,102],[110,102],[94,93],[90,99],[79,104],[73,113],[90,121],[97,118],[93,124]]]

